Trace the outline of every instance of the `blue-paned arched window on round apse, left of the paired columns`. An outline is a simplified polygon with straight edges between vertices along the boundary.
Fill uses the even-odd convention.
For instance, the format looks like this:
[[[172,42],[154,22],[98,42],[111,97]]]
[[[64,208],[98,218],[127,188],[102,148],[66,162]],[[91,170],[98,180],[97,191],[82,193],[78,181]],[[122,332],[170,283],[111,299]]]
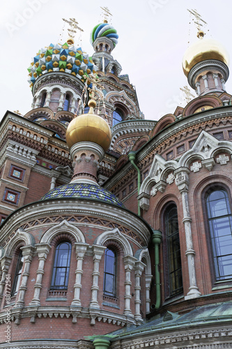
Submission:
[[[56,247],[54,265],[52,271],[52,290],[67,290],[68,276],[70,272],[72,244],[61,242]]]

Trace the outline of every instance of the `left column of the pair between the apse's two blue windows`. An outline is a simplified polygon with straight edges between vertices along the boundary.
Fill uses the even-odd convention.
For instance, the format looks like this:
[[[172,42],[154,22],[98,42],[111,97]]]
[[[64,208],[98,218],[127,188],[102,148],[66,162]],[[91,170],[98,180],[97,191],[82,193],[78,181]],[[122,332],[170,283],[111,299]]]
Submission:
[[[74,285],[74,298],[72,299],[71,306],[82,306],[81,300],[80,300],[80,292],[82,289],[82,265],[84,260],[84,255],[86,253],[86,250],[88,248],[88,244],[84,244],[81,242],[75,243],[76,247],[76,253],[77,253],[77,269],[76,269],[76,280]]]

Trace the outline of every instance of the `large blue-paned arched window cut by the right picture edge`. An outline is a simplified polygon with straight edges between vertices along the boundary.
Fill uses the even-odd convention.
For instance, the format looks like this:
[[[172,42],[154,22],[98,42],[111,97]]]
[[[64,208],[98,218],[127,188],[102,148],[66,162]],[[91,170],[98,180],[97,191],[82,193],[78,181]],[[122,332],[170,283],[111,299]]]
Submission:
[[[215,188],[206,195],[216,281],[232,278],[232,216],[228,193]]]

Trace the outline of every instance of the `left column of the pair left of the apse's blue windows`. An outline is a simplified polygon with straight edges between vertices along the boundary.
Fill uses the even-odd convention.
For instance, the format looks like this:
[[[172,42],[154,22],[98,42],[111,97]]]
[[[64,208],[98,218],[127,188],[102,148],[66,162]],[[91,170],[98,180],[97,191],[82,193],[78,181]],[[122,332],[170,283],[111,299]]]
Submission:
[[[15,304],[15,308],[23,308],[24,307],[24,297],[27,290],[27,280],[29,277],[29,270],[31,266],[31,261],[33,258],[33,253],[36,248],[33,246],[23,246],[21,247],[22,255],[24,257],[24,270],[22,272],[22,280],[19,288],[19,296],[17,302]]]

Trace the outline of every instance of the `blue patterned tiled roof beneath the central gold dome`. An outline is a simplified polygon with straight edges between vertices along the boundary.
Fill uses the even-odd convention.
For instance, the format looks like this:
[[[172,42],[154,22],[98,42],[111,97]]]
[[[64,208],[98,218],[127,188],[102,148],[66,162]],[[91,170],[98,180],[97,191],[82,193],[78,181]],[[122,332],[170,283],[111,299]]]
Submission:
[[[56,199],[56,198],[72,198],[72,199],[93,199],[108,204],[124,207],[116,196],[101,186],[87,183],[69,183],[56,188],[43,195],[41,200]]]

